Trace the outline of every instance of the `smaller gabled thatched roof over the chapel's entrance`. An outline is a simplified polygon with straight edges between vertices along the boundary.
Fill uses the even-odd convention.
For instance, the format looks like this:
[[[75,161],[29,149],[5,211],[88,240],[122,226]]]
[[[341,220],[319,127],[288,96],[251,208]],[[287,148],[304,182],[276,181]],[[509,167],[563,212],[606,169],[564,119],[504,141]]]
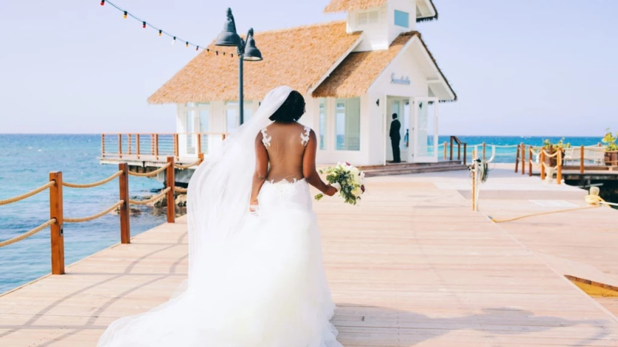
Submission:
[[[427,49],[427,46],[421,39],[418,31],[410,31],[402,33],[391,43],[389,49],[384,51],[368,51],[368,52],[353,52],[350,53],[339,66],[332,71],[331,75],[324,80],[318,88],[313,91],[313,97],[355,97],[362,96],[370,88],[373,81],[386,69],[391,61],[399,54],[405,44],[414,36],[417,36],[420,42],[425,47],[431,60],[436,65],[439,73],[448,84],[455,96],[453,100],[457,100],[457,95],[451,88],[451,85],[439,69],[436,60]]]

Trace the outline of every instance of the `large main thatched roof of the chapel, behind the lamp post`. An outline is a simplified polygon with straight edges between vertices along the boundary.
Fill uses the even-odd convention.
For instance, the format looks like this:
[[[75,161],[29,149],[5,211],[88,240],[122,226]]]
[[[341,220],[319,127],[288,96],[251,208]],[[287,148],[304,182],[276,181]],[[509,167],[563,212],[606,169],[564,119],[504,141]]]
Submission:
[[[347,34],[345,22],[337,21],[286,30],[255,33],[264,60],[245,62],[244,93],[260,100],[282,84],[300,92],[319,83],[360,38]],[[151,104],[207,102],[238,99],[238,59],[235,47],[208,47],[148,98]],[[226,52],[218,56],[214,51]],[[234,54],[234,58],[228,57]]]

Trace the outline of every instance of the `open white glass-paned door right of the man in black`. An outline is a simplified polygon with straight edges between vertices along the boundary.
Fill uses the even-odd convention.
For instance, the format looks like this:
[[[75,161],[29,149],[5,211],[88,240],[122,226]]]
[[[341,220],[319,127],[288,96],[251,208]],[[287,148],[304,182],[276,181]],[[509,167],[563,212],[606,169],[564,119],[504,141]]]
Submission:
[[[414,127],[410,145],[415,163],[438,162],[438,98],[414,98]]]

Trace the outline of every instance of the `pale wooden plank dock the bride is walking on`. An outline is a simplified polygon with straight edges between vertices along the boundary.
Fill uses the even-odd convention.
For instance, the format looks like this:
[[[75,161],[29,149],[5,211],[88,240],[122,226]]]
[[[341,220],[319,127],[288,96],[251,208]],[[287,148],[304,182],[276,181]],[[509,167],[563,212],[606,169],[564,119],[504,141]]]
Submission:
[[[512,168],[490,173],[480,212],[463,171],[367,186],[358,206],[315,203],[345,346],[618,346],[618,305],[564,277],[618,287],[618,211],[491,222],[584,206],[585,192]],[[184,221],[0,296],[0,346],[94,346],[112,320],[166,301],[187,273]]]

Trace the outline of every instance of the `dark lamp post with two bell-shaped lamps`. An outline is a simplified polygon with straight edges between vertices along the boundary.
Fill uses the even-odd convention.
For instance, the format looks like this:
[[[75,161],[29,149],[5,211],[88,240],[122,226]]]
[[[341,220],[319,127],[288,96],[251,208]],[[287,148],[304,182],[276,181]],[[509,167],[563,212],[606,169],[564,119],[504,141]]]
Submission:
[[[237,47],[239,57],[239,113],[240,124],[245,120],[245,102],[243,100],[243,60],[258,61],[262,60],[262,54],[255,47],[255,39],[253,39],[253,28],[247,33],[247,41],[243,40],[236,33],[236,23],[232,9],[227,9],[227,22],[223,25],[223,31],[217,36],[216,46]]]

